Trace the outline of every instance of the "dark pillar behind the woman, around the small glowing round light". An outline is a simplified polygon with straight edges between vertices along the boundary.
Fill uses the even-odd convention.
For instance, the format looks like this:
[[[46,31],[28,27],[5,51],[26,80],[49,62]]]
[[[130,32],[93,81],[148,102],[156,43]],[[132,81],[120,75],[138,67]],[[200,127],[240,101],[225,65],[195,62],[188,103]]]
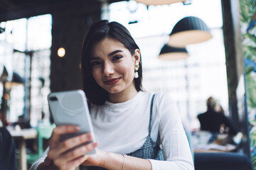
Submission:
[[[70,4],[71,5],[71,4]],[[50,55],[50,90],[67,91],[81,89],[80,51],[82,40],[92,23],[100,20],[100,1],[67,6],[63,12],[52,13],[52,47]],[[65,48],[65,56],[58,57],[59,47]]]

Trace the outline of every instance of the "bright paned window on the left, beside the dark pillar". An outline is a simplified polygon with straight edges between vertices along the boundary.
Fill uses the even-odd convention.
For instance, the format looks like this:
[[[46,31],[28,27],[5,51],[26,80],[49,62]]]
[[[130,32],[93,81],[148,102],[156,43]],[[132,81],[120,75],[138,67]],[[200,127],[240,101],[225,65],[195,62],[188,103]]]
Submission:
[[[0,23],[5,28],[0,34],[0,64],[9,72],[9,81],[16,72],[26,84],[9,89],[7,118],[12,123],[20,115],[26,120],[30,116],[32,126],[43,116],[49,118],[51,23],[50,14]]]

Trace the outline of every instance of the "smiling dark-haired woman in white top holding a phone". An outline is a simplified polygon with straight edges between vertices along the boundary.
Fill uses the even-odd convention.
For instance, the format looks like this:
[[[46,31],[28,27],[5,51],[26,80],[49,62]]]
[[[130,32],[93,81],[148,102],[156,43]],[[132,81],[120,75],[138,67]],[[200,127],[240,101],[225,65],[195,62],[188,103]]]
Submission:
[[[97,142],[70,151],[91,135],[60,142],[60,135],[78,128],[57,127],[31,169],[38,164],[38,169],[193,169],[178,109],[169,96],[142,91],[140,50],[124,26],[95,23],[85,38],[81,62]],[[84,156],[95,147],[96,154]]]

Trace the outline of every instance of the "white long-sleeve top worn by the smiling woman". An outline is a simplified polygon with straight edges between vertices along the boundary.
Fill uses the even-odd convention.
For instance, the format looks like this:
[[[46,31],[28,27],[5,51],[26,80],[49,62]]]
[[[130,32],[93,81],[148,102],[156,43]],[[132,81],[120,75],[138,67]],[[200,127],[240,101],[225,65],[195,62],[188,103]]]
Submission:
[[[124,103],[106,102],[92,106],[90,113],[99,149],[117,154],[134,152],[149,135],[151,96],[139,91],[137,96]],[[176,103],[170,96],[156,94],[154,98],[151,137],[163,150],[164,160],[152,160],[153,170],[194,169],[191,150],[183,130]],[[48,149],[31,170],[45,159]]]

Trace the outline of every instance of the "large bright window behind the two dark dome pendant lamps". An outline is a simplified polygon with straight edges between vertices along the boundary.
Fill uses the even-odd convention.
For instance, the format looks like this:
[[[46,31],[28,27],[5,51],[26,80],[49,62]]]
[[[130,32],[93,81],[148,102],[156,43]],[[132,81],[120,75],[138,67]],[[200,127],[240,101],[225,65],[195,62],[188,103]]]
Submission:
[[[169,94],[178,103],[184,124],[199,128],[198,113],[206,111],[206,99],[213,96],[228,114],[228,85],[223,42],[223,21],[219,1],[193,1],[148,6],[135,1],[110,4],[110,21],[128,28],[142,52],[143,81],[146,91]],[[164,43],[175,24],[186,16],[201,18],[211,30],[213,38],[200,44],[188,45],[186,60],[158,59]]]

